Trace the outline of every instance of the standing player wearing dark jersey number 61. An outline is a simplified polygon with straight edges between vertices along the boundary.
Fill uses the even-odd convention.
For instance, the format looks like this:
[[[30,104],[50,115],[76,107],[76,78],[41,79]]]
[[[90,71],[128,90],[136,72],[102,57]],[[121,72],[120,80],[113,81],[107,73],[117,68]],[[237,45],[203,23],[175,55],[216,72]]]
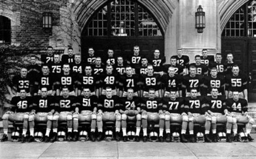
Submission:
[[[42,65],[42,73],[37,76],[35,86],[36,92],[34,95],[42,95],[41,88],[47,88],[47,95],[55,95],[56,91],[53,91],[53,83],[55,82],[55,78],[52,74],[49,73],[49,65]]]

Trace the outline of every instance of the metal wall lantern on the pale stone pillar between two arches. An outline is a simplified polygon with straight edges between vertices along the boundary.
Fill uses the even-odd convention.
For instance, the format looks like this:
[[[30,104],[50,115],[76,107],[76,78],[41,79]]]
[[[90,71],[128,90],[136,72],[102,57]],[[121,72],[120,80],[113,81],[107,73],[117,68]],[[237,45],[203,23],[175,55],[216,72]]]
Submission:
[[[203,12],[201,5],[199,5],[195,13],[195,28],[198,33],[203,33],[203,29],[205,28],[205,12]]]

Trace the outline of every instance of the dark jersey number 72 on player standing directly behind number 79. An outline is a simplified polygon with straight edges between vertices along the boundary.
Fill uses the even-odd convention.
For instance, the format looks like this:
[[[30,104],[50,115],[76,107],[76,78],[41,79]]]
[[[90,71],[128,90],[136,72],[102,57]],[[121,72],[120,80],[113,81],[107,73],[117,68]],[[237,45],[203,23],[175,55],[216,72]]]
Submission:
[[[191,77],[189,74],[183,76],[182,86],[187,89],[187,92],[190,92],[192,88],[197,89],[197,92],[200,91],[200,87],[203,84],[203,76],[196,75],[195,77]]]

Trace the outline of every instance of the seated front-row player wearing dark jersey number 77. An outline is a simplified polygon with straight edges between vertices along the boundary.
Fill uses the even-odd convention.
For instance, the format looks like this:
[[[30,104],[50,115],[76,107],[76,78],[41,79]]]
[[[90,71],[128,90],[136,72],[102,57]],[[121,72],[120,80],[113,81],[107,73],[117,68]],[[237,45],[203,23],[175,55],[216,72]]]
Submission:
[[[166,141],[170,142],[170,122],[181,124],[181,141],[187,143],[185,138],[188,116],[184,111],[183,99],[176,97],[176,90],[170,90],[170,98],[163,98],[163,112],[165,114]]]

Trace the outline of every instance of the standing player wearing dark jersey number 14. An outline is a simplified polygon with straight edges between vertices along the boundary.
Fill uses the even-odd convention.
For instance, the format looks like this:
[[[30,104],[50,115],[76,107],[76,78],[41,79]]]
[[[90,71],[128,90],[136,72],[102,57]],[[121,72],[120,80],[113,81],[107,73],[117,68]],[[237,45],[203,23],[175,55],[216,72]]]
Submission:
[[[164,97],[170,97],[170,91],[176,91],[176,97],[182,97],[181,81],[182,78],[179,75],[175,75],[175,68],[170,66],[168,68],[168,74],[164,74],[161,79],[162,83],[162,95]]]

